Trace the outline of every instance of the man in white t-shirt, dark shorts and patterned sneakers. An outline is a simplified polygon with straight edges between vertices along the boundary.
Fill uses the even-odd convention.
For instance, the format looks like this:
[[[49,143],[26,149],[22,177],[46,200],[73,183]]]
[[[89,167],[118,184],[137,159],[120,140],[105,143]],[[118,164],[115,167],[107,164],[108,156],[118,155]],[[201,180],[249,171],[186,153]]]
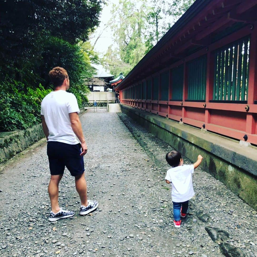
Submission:
[[[51,201],[49,221],[74,216],[74,212],[63,210],[58,204],[59,182],[65,166],[75,177],[75,185],[80,196],[80,215],[95,210],[97,201],[87,200],[87,184],[84,174],[83,156],[87,153],[87,144],[82,132],[76,97],[66,92],[69,89],[67,71],[55,67],[49,72],[55,90],[49,93],[41,103],[41,117],[45,137],[51,179],[48,193]],[[81,144],[78,142],[78,137]],[[82,151],[81,151],[82,148]]]

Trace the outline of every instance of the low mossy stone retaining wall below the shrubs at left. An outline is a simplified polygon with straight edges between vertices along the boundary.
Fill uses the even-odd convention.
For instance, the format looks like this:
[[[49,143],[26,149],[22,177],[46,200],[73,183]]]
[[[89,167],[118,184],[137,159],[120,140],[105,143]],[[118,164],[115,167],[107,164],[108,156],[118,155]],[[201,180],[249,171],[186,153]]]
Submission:
[[[85,109],[80,109],[80,114]],[[26,130],[1,132],[0,133],[0,163],[12,158],[15,154],[23,151],[28,146],[34,144],[44,137],[42,124],[33,126]]]

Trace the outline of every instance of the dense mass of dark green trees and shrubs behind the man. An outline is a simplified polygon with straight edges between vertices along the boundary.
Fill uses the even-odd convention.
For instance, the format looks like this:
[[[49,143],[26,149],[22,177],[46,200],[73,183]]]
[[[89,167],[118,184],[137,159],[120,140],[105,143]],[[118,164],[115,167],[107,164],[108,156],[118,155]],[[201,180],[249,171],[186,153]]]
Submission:
[[[79,107],[88,101],[85,79],[95,74],[91,62],[96,62],[98,56],[90,43],[84,41],[99,24],[102,3],[102,0],[3,1],[0,131],[24,129],[41,121],[41,101],[53,89],[48,77],[53,67],[67,70],[70,92],[77,97]]]

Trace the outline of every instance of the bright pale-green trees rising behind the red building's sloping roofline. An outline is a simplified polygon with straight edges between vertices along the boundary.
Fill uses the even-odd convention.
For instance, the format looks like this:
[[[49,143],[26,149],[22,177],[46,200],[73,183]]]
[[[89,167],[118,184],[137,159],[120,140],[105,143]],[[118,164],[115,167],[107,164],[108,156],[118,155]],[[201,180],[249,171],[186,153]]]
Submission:
[[[104,56],[104,67],[117,76],[128,74],[195,0],[120,0],[113,5],[115,45]]]

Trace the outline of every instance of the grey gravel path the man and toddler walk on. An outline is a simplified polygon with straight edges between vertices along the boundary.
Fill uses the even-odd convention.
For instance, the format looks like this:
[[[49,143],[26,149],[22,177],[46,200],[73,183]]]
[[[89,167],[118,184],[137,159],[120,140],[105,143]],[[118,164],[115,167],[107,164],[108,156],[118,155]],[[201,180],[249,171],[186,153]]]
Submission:
[[[206,226],[226,230],[245,256],[257,256],[254,210],[200,168],[188,217],[174,228],[164,181],[170,146],[126,115],[105,111],[80,117],[88,144],[88,198],[99,201],[98,209],[79,215],[74,178],[65,170],[60,206],[75,216],[48,221],[50,172],[43,144],[0,174],[0,256],[224,256]]]

